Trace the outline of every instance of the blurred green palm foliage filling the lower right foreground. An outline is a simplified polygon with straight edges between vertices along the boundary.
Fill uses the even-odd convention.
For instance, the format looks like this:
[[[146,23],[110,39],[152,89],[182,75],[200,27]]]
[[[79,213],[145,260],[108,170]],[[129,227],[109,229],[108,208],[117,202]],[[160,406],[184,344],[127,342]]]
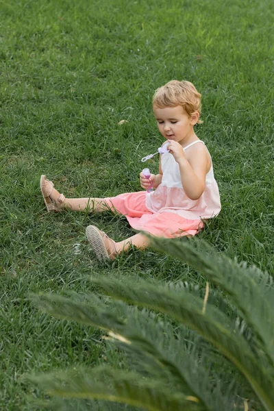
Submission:
[[[79,410],[274,411],[272,277],[201,240],[153,242],[206,277],[206,290],[110,276],[92,277],[100,294],[32,295],[53,316],[103,330],[106,355],[115,343],[121,358],[119,366],[28,377],[62,397],[47,407],[77,410],[71,401],[79,401]]]

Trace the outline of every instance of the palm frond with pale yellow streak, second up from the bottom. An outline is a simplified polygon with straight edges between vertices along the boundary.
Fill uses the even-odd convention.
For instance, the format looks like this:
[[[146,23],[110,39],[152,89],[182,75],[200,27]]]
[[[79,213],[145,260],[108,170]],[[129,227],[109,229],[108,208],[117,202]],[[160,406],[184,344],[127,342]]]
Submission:
[[[90,303],[92,303],[92,296],[90,296],[89,299]],[[171,336],[171,338],[169,338],[169,345],[171,345],[171,340],[174,339],[174,337],[172,326],[168,323],[165,323],[164,328],[159,327],[159,325],[155,323],[155,319],[150,318],[152,315],[148,312],[146,313],[147,315],[144,315],[144,312],[140,313],[140,310],[127,306],[127,321],[121,323],[114,314],[112,314],[112,316],[109,315],[110,310],[114,312],[114,308],[110,303],[104,306],[104,310],[96,306],[96,297],[95,303],[92,304],[90,311],[85,303],[71,301],[71,299],[58,295],[36,295],[33,301],[36,303],[36,306],[40,306],[42,310],[58,318],[84,322],[86,324],[96,325],[98,328],[107,330],[108,332],[115,332],[120,336],[121,342],[125,343],[128,341],[129,344],[125,343],[124,349],[127,348],[128,351],[135,354],[140,353],[140,358],[147,358],[145,362],[146,366],[148,366],[147,371],[150,373],[153,371],[153,377],[155,377],[155,379],[165,379],[164,384],[172,380],[173,385],[177,384],[180,390],[186,395],[199,397],[199,401],[202,402],[198,394],[200,390],[195,391],[195,389],[192,388],[192,386],[196,386],[197,388],[199,386],[198,384],[194,384],[194,382],[197,383],[197,375],[192,377],[192,381],[190,378],[190,369],[193,369],[194,366],[193,357],[190,359],[191,364],[189,364],[188,373],[186,373],[187,360],[186,356],[184,356],[185,370],[182,369],[182,371],[180,371],[175,365],[175,362],[167,356],[164,356],[164,353],[160,353],[155,343],[152,343],[153,341],[162,341],[161,336],[164,332],[165,334],[169,333],[169,336]],[[121,311],[121,304],[119,304],[119,309]],[[125,315],[125,308],[122,311]],[[149,334],[153,332],[153,335],[150,336],[150,341],[142,336],[145,329],[149,330]],[[176,347],[176,349],[178,351],[179,347]],[[184,353],[183,346],[181,347],[181,351]],[[157,372],[155,373],[156,370]],[[188,375],[188,378],[186,375]],[[202,383],[202,371],[199,373],[198,380]],[[207,381],[206,378],[205,380]]]

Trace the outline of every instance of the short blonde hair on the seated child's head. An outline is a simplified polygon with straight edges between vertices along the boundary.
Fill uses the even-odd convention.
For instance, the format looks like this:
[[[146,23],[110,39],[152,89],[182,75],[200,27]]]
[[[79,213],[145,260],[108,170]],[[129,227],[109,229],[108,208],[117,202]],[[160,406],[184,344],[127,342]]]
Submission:
[[[201,94],[192,83],[186,80],[182,82],[171,80],[158,88],[153,95],[152,103],[157,108],[182,105],[188,116],[192,116],[194,112],[201,114]],[[197,123],[203,123],[203,121],[199,120]]]

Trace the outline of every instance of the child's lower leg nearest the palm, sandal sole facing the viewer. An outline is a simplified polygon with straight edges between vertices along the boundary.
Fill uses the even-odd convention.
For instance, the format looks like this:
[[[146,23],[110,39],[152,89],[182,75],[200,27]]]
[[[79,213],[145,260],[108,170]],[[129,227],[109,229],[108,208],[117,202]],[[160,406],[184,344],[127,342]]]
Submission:
[[[99,260],[108,260],[109,258],[113,260],[117,254],[127,251],[131,245],[135,245],[140,249],[145,249],[149,245],[149,239],[140,233],[126,240],[115,242],[95,225],[86,227],[86,236]]]

